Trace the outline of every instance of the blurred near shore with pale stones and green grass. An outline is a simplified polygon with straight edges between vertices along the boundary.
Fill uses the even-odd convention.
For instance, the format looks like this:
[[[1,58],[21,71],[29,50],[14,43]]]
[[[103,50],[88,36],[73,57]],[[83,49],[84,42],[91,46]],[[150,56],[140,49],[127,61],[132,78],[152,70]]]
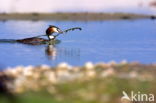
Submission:
[[[126,61],[78,67],[66,63],[17,66],[0,72],[0,99],[5,97],[7,103],[34,103],[39,98],[46,103],[125,103],[120,100],[123,90],[155,95],[155,74],[156,64]]]

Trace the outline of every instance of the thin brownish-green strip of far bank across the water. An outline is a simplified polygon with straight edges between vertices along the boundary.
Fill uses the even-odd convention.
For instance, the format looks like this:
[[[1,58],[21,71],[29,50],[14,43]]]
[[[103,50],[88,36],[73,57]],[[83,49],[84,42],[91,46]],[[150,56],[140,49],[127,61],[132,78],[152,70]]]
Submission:
[[[73,21],[99,21],[99,20],[126,20],[126,19],[156,19],[154,15],[131,13],[1,13],[3,20],[73,20]]]

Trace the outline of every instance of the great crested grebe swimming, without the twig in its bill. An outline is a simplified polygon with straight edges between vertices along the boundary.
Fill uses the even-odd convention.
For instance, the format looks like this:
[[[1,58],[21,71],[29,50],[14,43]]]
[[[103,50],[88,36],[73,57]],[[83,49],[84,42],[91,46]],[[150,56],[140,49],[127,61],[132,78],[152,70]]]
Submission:
[[[41,35],[41,36],[47,36],[49,40],[44,39],[44,38],[39,38],[40,36],[36,37],[31,37],[31,38],[25,38],[25,39],[19,39],[16,40],[19,43],[24,43],[24,44],[42,44],[43,42],[48,42],[50,40],[54,40],[56,37],[53,35],[53,33],[63,33],[60,28],[50,25],[47,30],[46,30],[46,35]]]

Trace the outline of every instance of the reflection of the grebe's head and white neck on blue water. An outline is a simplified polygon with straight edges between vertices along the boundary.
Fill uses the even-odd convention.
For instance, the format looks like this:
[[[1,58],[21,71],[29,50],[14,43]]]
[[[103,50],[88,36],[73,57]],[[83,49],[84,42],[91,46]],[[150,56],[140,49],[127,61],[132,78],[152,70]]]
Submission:
[[[55,48],[55,45],[49,44],[47,48],[45,49],[46,55],[48,56],[48,59],[55,60],[57,56],[57,49]]]

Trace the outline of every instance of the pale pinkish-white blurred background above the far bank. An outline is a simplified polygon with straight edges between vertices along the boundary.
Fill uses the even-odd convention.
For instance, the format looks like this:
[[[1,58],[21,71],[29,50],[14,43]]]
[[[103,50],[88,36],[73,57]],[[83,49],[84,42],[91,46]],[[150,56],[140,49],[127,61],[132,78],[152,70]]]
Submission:
[[[0,13],[156,13],[156,0],[0,0]]]

